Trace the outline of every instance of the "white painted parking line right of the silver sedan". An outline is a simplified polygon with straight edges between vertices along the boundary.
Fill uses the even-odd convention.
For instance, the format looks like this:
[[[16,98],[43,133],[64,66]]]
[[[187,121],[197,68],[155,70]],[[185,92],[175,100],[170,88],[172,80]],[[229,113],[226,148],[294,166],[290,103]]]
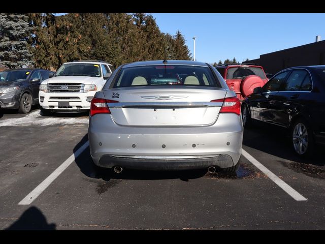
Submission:
[[[271,180],[275,182],[276,185],[281,187],[283,191],[293,197],[296,201],[307,201],[307,199],[304,198],[299,192],[297,192],[295,189],[286,184],[282,179],[280,179],[278,176],[268,170],[263,164],[259,163],[244,149],[242,149],[242,155],[253,165],[255,165],[259,170],[261,170],[264,174],[266,174]]]

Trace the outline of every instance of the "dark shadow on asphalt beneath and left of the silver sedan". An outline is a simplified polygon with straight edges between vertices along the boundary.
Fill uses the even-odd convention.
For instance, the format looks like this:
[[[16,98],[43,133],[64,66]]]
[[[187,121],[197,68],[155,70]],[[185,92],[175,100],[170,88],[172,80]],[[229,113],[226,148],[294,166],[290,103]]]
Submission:
[[[75,146],[74,153],[88,140],[86,134],[82,140]],[[119,174],[111,169],[100,168],[94,165],[90,157],[89,147],[87,147],[75,160],[80,171],[87,177],[103,179],[181,179],[188,181],[189,179],[200,178],[207,173],[206,169],[200,170],[182,170],[182,171],[152,171],[152,170],[132,170],[123,169]]]

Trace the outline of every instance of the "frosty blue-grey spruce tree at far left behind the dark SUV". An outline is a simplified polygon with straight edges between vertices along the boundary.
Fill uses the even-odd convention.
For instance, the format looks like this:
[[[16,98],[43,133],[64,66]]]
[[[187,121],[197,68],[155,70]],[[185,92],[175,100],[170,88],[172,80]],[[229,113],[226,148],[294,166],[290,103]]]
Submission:
[[[8,68],[30,65],[27,41],[31,32],[24,14],[0,14],[0,64]]]

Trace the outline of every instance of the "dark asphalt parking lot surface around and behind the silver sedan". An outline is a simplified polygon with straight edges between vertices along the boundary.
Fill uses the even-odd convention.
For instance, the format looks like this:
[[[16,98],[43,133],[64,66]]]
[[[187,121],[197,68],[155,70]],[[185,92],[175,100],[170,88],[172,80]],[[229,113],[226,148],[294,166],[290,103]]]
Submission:
[[[306,200],[297,201],[244,156],[237,173],[95,167],[88,116],[0,111],[0,229],[325,229],[325,153],[300,159],[285,133],[245,129],[243,149]],[[22,199],[71,161],[30,204]],[[70,162],[69,161],[69,162]],[[68,163],[69,163],[68,162]]]

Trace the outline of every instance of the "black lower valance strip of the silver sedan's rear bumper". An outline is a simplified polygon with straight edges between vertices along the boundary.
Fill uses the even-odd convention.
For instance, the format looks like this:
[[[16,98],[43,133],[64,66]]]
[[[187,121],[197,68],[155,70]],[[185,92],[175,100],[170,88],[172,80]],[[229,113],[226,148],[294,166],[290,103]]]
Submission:
[[[229,155],[214,155],[214,157],[199,159],[136,159],[131,157],[133,156],[121,158],[103,155],[99,161],[99,166],[104,168],[120,166],[142,170],[186,170],[208,168],[209,166],[228,168],[234,165]]]

